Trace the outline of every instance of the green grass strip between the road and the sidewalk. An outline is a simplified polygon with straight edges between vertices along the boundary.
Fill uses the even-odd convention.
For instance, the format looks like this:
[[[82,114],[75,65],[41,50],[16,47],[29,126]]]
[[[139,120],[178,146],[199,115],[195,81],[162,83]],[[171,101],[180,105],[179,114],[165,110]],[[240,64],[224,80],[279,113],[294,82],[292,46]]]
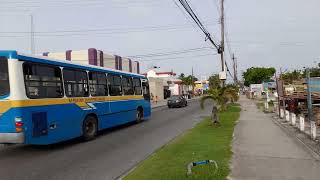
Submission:
[[[124,180],[225,180],[230,172],[231,141],[239,116],[240,107],[235,104],[220,113],[219,127],[213,127],[206,118],[140,163]],[[217,161],[219,169],[216,173],[213,165],[202,165],[194,167],[193,174],[187,175],[188,163],[209,159]]]

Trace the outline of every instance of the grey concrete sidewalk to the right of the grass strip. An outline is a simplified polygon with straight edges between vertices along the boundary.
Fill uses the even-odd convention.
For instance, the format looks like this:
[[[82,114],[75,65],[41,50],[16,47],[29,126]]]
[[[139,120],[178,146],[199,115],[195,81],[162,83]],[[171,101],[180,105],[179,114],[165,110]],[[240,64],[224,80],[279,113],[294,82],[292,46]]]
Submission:
[[[240,98],[230,179],[320,179],[320,163],[307,148],[259,111],[254,101]]]

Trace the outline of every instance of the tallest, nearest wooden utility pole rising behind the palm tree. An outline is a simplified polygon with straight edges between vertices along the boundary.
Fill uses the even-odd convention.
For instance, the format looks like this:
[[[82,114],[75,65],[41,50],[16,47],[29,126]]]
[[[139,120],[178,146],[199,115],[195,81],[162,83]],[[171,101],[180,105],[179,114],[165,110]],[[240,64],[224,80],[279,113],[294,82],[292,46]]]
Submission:
[[[222,76],[226,76],[226,69],[225,69],[225,60],[224,60],[224,0],[221,0],[221,44],[220,44],[220,56],[221,56],[221,70]],[[220,77],[222,81],[222,87],[225,85],[225,77]]]

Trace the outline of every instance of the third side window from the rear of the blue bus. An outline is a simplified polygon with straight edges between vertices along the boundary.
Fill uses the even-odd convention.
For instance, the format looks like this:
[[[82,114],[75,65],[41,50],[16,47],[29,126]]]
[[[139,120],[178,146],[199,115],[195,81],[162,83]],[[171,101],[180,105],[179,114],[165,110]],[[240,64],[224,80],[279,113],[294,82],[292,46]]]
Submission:
[[[106,74],[90,72],[89,84],[91,96],[108,96]]]

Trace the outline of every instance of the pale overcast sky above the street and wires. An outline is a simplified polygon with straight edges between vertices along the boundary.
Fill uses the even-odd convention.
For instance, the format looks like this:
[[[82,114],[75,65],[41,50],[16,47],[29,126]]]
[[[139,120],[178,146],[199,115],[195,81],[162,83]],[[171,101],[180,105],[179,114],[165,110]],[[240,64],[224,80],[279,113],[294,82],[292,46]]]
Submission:
[[[219,42],[220,0],[188,2]],[[174,0],[0,0],[0,4],[1,50],[31,52],[32,14],[38,54],[96,48],[126,57],[148,55],[136,59],[143,72],[158,66],[191,74],[193,68],[199,78],[221,69],[216,50]],[[232,53],[239,75],[252,66],[292,70],[320,62],[319,7],[319,0],[225,0],[230,70]]]

